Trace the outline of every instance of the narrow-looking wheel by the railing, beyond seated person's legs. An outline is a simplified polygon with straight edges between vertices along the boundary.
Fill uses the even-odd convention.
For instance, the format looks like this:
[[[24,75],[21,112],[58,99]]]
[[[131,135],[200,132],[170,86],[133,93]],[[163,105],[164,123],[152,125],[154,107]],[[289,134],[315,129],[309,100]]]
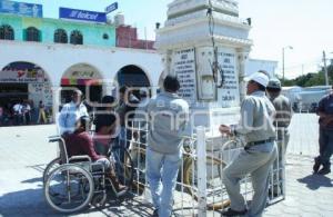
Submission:
[[[110,160],[114,166],[118,180],[130,189],[133,184],[134,166],[129,151],[121,146],[114,146]]]

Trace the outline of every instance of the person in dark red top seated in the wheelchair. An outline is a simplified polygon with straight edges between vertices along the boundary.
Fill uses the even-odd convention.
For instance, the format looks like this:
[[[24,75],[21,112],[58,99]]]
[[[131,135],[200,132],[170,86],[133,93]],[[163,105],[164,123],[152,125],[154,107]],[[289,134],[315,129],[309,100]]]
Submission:
[[[104,115],[103,119],[104,120],[103,122],[101,122],[100,127],[103,128],[103,132],[105,132],[107,136],[111,134],[114,119],[110,115]],[[103,165],[107,172],[105,176],[112,181],[112,185],[117,190],[117,195],[124,195],[128,188],[121,185],[118,180],[112,162],[105,156],[98,155],[95,152],[93,140],[91,135],[89,134],[89,129],[90,118],[88,116],[80,117],[75,124],[74,132],[72,135],[65,136],[64,138],[69,157],[88,155],[93,162]]]

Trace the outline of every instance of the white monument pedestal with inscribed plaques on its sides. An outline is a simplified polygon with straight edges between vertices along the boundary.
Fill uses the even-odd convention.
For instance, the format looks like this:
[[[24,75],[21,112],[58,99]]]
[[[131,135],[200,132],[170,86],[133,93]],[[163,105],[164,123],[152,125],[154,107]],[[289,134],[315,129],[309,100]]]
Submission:
[[[174,0],[169,4],[165,26],[157,31],[157,48],[163,55],[165,73],[176,75],[181,82],[180,95],[191,106],[192,129],[206,126],[213,130],[222,122],[238,122],[245,93],[244,66],[252,46],[250,29],[248,21],[239,18],[234,0]],[[210,30],[223,71],[215,77]],[[222,80],[223,86],[216,88]]]

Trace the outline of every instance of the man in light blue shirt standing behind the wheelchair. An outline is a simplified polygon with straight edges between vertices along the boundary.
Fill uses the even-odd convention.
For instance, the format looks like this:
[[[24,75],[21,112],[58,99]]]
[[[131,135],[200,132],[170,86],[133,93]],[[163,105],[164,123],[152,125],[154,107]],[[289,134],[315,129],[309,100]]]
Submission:
[[[65,103],[59,115],[60,135],[73,134],[77,120],[83,116],[89,117],[87,107],[82,103],[82,92],[74,90],[71,97],[72,101]]]

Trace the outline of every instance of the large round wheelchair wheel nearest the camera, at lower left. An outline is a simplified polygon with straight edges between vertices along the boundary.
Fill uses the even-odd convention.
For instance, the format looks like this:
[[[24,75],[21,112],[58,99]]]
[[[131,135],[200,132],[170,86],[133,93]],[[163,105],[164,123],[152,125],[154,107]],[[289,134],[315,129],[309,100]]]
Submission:
[[[44,185],[47,203],[61,213],[73,213],[89,205],[94,191],[92,176],[77,165],[62,165],[51,171]]]

